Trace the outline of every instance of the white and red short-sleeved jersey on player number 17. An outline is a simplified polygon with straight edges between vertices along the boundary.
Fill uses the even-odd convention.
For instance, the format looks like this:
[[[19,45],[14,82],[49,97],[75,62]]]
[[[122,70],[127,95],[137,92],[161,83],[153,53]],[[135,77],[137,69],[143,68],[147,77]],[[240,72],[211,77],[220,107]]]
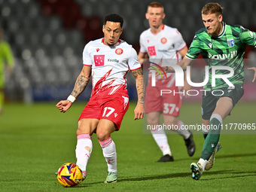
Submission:
[[[126,87],[129,70],[141,68],[136,50],[125,41],[118,40],[113,46],[105,45],[104,38],[90,41],[84,47],[83,64],[92,67],[93,95],[110,88],[108,94]]]

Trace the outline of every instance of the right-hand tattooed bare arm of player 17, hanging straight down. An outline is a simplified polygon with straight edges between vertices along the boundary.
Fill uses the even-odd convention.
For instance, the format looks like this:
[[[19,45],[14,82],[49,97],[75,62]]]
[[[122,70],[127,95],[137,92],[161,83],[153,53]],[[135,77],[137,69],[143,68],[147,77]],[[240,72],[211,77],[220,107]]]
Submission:
[[[144,95],[145,95],[145,87],[144,87],[144,79],[142,68],[136,69],[133,72],[133,76],[136,79],[136,89],[138,93],[138,103],[136,108],[134,109],[134,120],[142,119],[144,117]]]

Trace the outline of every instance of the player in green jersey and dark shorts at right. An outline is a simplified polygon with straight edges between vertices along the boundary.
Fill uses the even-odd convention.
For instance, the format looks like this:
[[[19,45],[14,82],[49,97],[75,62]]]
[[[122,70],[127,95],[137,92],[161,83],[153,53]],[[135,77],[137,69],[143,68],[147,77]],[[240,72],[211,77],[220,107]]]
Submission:
[[[205,142],[200,160],[190,165],[192,178],[195,180],[200,179],[205,169],[209,170],[213,166],[215,153],[221,148],[218,140],[222,121],[230,114],[244,93],[242,86],[244,82],[245,45],[256,46],[256,33],[239,25],[224,23],[222,11],[223,8],[218,3],[209,3],[203,7],[202,19],[205,28],[196,32],[186,56],[177,64],[186,70],[187,66],[201,53],[209,66],[209,81],[204,86],[205,91],[203,93],[202,118],[203,125],[217,129],[203,129]],[[223,78],[216,78],[215,86],[212,86],[215,74],[227,75],[230,73],[228,70],[215,70],[215,74],[212,74],[212,69],[220,66],[233,69],[233,75],[227,78],[233,86],[227,84],[228,82],[224,81]],[[248,69],[254,71],[254,81],[256,67]],[[166,72],[174,72],[174,69],[169,67]],[[216,96],[217,94],[212,94],[212,90],[219,90],[221,94]]]

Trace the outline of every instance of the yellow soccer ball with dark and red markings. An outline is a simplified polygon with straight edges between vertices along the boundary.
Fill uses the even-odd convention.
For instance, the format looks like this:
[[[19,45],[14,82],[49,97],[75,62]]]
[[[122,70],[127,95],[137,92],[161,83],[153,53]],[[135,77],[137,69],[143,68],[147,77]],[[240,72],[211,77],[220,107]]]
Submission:
[[[58,170],[57,179],[64,187],[74,187],[81,183],[83,175],[75,163],[64,163]]]

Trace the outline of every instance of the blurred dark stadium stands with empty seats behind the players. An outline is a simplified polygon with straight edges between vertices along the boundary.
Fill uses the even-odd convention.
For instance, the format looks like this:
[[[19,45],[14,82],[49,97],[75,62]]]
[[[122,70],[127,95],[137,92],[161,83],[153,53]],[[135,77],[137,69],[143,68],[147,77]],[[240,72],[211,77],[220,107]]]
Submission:
[[[0,27],[11,44],[15,57],[14,71],[6,79],[7,101],[57,101],[66,99],[82,69],[84,45],[102,38],[105,14],[123,16],[122,39],[139,52],[139,35],[148,29],[147,5],[153,1],[138,0],[0,0]],[[203,27],[201,10],[206,0],[159,0],[165,8],[166,25],[175,27],[189,47],[194,33]],[[256,1],[215,1],[224,7],[224,22],[239,24],[256,31]],[[247,47],[245,66],[256,66],[253,47]],[[192,79],[204,72],[193,66]],[[200,75],[199,75],[200,74]],[[136,99],[135,81],[128,74],[130,99]],[[254,100],[255,85],[249,83],[252,72],[245,70],[245,96]],[[198,80],[200,81],[200,80]],[[254,88],[254,89],[253,89]],[[79,100],[90,98],[89,86]],[[250,92],[251,91],[251,92]],[[200,97],[198,98],[200,99]]]

